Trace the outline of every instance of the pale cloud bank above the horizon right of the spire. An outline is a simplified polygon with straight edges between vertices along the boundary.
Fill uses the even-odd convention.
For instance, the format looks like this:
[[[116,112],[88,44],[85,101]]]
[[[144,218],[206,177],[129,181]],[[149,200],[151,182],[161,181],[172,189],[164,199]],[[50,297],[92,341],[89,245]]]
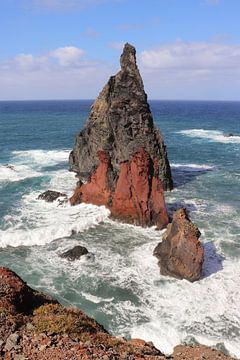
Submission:
[[[177,41],[142,51],[139,65],[152,98],[239,98],[238,44]]]

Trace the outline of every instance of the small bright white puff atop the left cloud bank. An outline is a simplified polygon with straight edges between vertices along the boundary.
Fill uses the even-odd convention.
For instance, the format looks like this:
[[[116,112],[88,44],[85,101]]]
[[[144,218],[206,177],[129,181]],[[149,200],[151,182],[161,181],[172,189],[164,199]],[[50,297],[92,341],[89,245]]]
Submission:
[[[62,66],[77,66],[80,64],[85,51],[74,46],[65,46],[55,49],[49,53],[56,58]]]

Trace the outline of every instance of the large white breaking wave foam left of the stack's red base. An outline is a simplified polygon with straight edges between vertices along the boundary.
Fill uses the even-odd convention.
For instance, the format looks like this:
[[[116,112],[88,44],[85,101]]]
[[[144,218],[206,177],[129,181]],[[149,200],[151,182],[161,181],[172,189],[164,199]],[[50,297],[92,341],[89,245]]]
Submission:
[[[38,193],[25,196],[18,216],[7,216],[6,230],[0,230],[0,247],[44,245],[52,240],[81,232],[104,221],[109,211],[104,207],[80,204],[58,206],[58,202],[36,200]],[[27,225],[26,225],[27,224]]]

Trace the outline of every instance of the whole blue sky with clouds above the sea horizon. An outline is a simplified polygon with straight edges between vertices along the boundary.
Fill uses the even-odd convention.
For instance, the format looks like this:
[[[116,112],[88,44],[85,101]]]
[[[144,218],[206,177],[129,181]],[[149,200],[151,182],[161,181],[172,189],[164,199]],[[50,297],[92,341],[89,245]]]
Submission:
[[[0,0],[0,100],[94,99],[125,42],[150,99],[240,100],[240,0]]]

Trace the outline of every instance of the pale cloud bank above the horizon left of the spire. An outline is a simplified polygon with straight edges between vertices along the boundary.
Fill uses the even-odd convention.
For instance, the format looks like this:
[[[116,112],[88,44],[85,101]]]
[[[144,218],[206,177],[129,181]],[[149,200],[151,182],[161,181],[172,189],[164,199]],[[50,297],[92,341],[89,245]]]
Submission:
[[[72,46],[41,56],[18,54],[0,63],[0,100],[89,99],[96,96],[113,71]]]

